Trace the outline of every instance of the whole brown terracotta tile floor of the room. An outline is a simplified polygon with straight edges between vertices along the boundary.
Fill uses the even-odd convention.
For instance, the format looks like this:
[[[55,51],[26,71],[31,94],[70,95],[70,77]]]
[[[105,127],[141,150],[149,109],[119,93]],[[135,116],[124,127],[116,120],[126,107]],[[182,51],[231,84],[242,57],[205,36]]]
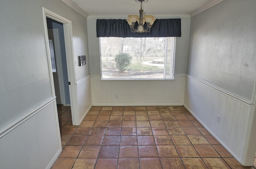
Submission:
[[[58,106],[63,151],[52,169],[243,167],[184,106],[94,106],[80,126]]]

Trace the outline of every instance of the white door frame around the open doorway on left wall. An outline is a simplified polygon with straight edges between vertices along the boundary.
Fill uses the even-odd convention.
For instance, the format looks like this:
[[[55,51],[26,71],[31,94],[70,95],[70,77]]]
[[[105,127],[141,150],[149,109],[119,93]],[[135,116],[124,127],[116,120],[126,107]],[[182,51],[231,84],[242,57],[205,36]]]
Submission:
[[[74,63],[72,22],[44,7],[42,7],[42,10],[43,10],[44,31],[45,31],[45,39],[46,39],[46,49],[47,49],[47,55],[48,55],[48,69],[49,69],[50,81],[52,86],[52,96],[55,96],[55,90],[54,90],[54,81],[53,81],[53,75],[52,75],[52,65],[50,60],[50,47],[49,45],[47,45],[49,39],[48,39],[48,28],[47,28],[46,17],[52,20],[56,20],[63,24],[67,69],[68,69],[68,82],[70,82],[70,85],[68,86],[69,86],[69,93],[70,93],[72,123],[73,125],[78,126],[79,125],[78,99],[77,99],[77,88],[76,88],[76,71],[75,71],[75,63]]]

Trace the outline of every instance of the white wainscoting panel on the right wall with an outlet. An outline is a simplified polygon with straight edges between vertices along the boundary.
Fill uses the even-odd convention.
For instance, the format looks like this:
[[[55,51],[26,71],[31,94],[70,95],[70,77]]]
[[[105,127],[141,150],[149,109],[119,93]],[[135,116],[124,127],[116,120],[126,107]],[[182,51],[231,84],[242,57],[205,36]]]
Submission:
[[[247,141],[250,105],[248,100],[187,76],[184,106],[239,162]]]

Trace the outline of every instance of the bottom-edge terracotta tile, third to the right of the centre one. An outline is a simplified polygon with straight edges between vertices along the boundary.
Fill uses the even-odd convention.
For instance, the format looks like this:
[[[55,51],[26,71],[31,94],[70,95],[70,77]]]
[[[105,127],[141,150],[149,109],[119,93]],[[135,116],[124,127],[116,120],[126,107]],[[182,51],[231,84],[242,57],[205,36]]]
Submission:
[[[206,165],[200,158],[182,158],[186,169],[207,169]]]

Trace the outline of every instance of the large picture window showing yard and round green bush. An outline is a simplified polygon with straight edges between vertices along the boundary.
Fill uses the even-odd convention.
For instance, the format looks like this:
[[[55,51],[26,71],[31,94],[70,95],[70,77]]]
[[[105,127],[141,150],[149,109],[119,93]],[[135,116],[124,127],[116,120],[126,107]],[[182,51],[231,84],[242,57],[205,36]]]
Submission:
[[[100,37],[102,79],[173,79],[176,37]]]

